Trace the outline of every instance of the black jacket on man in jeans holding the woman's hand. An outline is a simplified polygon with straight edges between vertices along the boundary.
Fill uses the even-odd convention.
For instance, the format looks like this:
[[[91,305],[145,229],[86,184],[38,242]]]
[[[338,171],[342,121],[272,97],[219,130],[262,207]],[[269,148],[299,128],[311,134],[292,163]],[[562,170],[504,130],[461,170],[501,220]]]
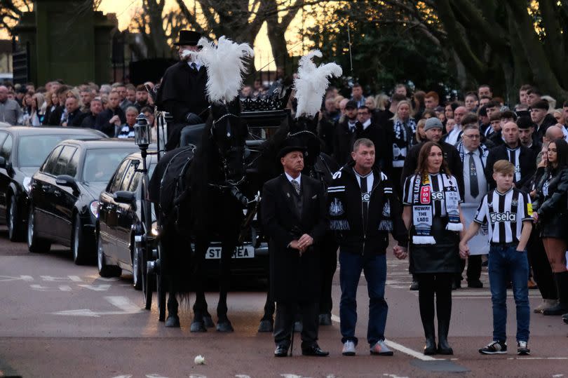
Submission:
[[[350,163],[334,174],[327,188],[330,229],[336,232],[342,251],[363,256],[384,255],[391,232],[399,245],[406,246],[407,229],[393,185],[384,173],[373,168],[367,224],[364,224],[361,189]]]

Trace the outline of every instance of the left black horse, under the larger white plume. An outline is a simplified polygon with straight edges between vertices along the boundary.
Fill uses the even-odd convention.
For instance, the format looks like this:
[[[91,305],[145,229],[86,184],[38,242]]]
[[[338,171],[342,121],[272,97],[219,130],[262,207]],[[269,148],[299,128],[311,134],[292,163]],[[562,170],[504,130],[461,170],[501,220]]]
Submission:
[[[161,217],[161,259],[169,287],[166,327],[180,327],[177,296],[182,299],[189,296],[188,276],[191,276],[196,292],[191,332],[205,332],[213,326],[205,301],[203,263],[210,243],[220,241],[217,331],[234,330],[227,317],[226,297],[231,257],[238,242],[243,206],[247,202],[238,189],[245,180],[243,159],[248,136],[248,126],[241,120],[240,114],[238,100],[211,105],[200,144],[194,149],[189,168],[180,177],[184,193],[178,198],[176,215]],[[165,162],[161,161],[158,166],[160,164]],[[158,166],[156,172],[163,171]],[[171,198],[160,198],[160,202],[163,201],[171,201]],[[191,259],[188,257],[191,251],[187,251],[189,235],[195,242]]]

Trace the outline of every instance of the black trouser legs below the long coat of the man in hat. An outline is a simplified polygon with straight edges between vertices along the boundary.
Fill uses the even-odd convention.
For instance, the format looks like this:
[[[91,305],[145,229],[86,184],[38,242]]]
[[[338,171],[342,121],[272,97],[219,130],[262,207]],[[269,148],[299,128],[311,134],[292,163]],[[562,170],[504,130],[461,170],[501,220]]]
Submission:
[[[318,342],[318,302],[276,302],[276,319],[274,320],[274,342],[288,348],[292,337],[295,316],[299,313],[302,319],[302,348]]]

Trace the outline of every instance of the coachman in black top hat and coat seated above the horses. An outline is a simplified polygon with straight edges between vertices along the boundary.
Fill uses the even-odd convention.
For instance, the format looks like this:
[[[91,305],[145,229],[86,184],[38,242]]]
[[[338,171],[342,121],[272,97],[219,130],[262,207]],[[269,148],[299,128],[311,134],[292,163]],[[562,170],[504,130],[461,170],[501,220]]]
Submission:
[[[181,56],[186,50],[197,51],[200,38],[198,32],[180,31],[180,39],[174,44],[178,46],[182,60],[165,70],[158,88],[158,109],[173,116],[173,123],[168,125],[167,151],[177,147],[185,126],[205,123],[208,117],[209,102],[205,95],[207,69],[191,55],[187,58]]]

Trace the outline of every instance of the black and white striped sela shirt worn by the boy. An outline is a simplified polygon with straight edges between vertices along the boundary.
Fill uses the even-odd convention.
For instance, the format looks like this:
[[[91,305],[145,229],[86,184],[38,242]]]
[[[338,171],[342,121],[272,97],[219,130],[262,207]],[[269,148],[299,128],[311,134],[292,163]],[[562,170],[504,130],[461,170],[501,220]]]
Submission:
[[[491,243],[518,243],[522,222],[532,221],[532,203],[528,194],[511,188],[501,194],[489,191],[473,218],[479,224],[488,224]]]

